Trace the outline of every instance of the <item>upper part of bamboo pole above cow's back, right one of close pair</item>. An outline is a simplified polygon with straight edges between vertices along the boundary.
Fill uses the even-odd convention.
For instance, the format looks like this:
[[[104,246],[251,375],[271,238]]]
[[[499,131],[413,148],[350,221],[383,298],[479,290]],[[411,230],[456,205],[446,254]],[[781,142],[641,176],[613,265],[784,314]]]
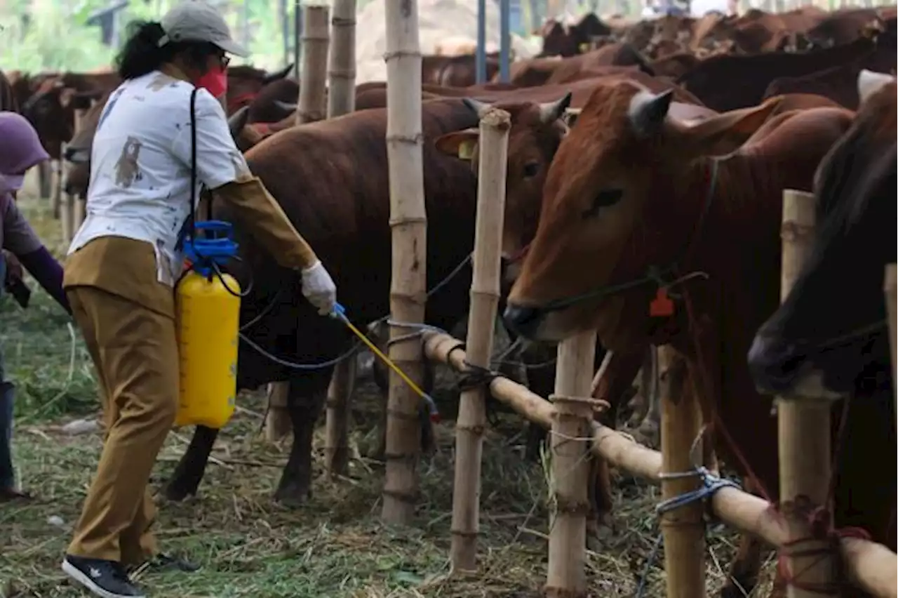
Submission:
[[[356,0],[334,0],[328,66],[328,118],[356,110]]]

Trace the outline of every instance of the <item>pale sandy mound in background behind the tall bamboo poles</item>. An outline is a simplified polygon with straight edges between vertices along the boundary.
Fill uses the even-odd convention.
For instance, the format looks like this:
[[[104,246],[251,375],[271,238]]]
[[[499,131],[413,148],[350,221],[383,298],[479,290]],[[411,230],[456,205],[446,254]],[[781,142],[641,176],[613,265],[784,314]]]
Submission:
[[[386,65],[386,22],[384,0],[373,0],[357,14],[356,83],[383,81]],[[432,54],[436,43],[450,36],[477,39],[477,0],[418,0],[418,35],[421,52]],[[539,51],[533,43],[512,35],[515,57],[529,57]],[[487,48],[499,46],[499,9],[487,2]]]

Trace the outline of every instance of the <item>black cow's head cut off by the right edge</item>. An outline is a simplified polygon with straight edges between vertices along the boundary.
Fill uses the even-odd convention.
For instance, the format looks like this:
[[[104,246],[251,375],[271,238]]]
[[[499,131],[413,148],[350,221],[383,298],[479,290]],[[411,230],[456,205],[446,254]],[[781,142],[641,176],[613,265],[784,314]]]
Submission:
[[[749,351],[762,392],[854,394],[888,374],[883,273],[898,245],[884,240],[898,219],[898,83],[862,70],[858,96],[850,129],[814,176],[810,254]]]

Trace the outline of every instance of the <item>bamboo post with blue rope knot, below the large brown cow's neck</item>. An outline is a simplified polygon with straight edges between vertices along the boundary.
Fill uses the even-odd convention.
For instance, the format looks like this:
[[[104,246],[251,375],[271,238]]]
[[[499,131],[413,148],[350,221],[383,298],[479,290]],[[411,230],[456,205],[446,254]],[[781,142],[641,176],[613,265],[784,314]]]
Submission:
[[[665,500],[682,497],[701,486],[695,470],[700,450],[694,451],[700,434],[699,397],[686,388],[685,367],[669,373],[667,391],[661,396],[661,492]],[[665,574],[669,598],[692,598],[705,587],[705,506],[693,500],[661,514],[665,540]]]

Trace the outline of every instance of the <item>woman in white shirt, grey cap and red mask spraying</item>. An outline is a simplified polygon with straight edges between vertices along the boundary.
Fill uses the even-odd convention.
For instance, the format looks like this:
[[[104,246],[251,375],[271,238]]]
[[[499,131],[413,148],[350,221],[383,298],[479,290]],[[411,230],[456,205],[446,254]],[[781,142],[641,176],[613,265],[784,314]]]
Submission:
[[[147,491],[179,395],[174,286],[198,208],[191,209],[191,191],[198,198],[200,187],[209,190],[273,259],[295,269],[320,313],[336,303],[328,271],[233,143],[216,98],[226,91],[226,53],[247,52],[224,19],[189,0],[161,22],[132,29],[117,58],[123,83],[93,139],[87,215],[63,279],[98,374],[107,436],[62,567],[107,598],[145,595],[126,567],[196,568],[157,552]],[[194,154],[197,186],[190,189]]]

